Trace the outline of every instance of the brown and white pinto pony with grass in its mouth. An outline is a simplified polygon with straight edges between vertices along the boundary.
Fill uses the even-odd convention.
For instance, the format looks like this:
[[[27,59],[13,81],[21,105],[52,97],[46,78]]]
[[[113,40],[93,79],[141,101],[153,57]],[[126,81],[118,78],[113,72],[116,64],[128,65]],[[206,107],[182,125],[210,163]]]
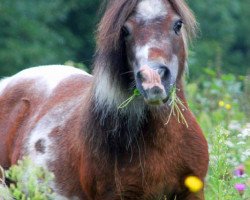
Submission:
[[[55,174],[56,199],[204,199],[184,185],[208,167],[182,84],[195,26],[183,0],[107,2],[93,76],[42,66],[1,81],[0,164],[28,155]],[[169,116],[173,88],[187,123]]]

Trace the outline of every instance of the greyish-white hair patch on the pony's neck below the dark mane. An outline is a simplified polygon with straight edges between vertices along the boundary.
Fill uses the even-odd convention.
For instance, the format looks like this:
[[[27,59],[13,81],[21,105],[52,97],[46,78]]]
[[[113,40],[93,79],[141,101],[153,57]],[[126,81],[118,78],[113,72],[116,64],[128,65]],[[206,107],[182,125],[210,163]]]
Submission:
[[[129,93],[129,89],[124,91],[119,83],[119,80],[111,79],[108,71],[99,72],[96,76],[95,83],[95,99],[96,99],[96,110],[104,110],[102,113],[101,122],[103,123],[108,113],[112,112],[114,118],[118,114],[118,111],[124,115],[128,115],[128,124],[141,122],[144,116],[145,102],[142,97],[136,97],[131,103],[125,108],[118,109],[118,107],[127,100],[133,93]],[[119,116],[117,116],[117,119]],[[124,122],[125,123],[125,122]]]

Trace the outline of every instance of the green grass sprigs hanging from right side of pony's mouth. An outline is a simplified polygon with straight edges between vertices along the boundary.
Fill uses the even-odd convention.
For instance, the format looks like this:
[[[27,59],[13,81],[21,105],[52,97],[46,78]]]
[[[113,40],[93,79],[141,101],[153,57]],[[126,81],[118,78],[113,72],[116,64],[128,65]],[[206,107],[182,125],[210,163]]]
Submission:
[[[185,119],[185,116],[183,115],[183,111],[187,110],[186,106],[183,104],[181,99],[177,96],[176,91],[178,89],[176,87],[173,87],[172,91],[170,92],[170,113],[168,116],[168,121],[165,123],[167,125],[171,119],[172,116],[177,117],[177,120],[179,123],[183,123],[188,128],[187,120]]]

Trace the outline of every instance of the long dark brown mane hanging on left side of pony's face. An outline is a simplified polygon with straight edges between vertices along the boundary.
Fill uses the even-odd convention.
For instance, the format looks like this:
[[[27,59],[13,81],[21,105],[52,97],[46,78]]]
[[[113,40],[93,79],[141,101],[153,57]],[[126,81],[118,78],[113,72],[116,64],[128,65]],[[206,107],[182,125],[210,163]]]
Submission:
[[[128,71],[121,30],[138,2],[139,0],[109,0],[104,3],[106,10],[99,23],[96,36],[94,74],[97,79],[98,74],[102,74],[104,70],[110,75],[111,80],[120,79],[121,74]],[[128,80],[131,80],[131,77],[123,75],[118,85],[126,89],[131,86],[132,82]]]

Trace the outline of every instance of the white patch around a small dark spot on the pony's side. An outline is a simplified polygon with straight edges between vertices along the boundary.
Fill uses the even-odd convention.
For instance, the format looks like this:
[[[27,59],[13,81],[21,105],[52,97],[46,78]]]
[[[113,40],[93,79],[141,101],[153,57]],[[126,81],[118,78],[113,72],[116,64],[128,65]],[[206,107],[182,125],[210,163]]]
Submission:
[[[81,103],[82,99],[77,98],[66,103],[61,103],[56,105],[54,108],[48,111],[35,125],[35,127],[31,130],[29,134],[29,138],[27,138],[27,154],[31,158],[31,160],[39,166],[48,169],[48,162],[52,162],[56,160],[55,151],[56,142],[53,141],[53,138],[50,137],[50,133],[57,127],[63,128],[67,121],[70,119],[72,114],[76,112],[76,107]],[[34,116],[39,115],[38,113]],[[43,145],[45,152],[41,153],[36,150],[36,143],[39,140],[43,140]]]

